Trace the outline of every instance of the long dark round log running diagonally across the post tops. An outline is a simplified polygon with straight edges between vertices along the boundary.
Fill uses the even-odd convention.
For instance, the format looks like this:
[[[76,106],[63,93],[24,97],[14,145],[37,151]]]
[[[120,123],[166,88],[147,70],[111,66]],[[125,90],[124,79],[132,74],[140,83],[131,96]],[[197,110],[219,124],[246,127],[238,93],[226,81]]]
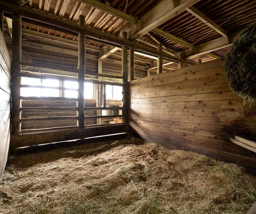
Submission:
[[[189,1],[191,1],[191,0],[189,0]],[[193,0],[193,1],[195,1],[195,0]],[[144,45],[140,45],[134,41],[119,38],[118,36],[104,33],[104,32],[101,32],[101,31],[93,29],[93,28],[82,27],[82,26],[79,26],[78,24],[70,22],[68,20],[58,18],[55,16],[51,16],[51,15],[48,15],[45,13],[41,13],[39,11],[34,11],[34,10],[28,9],[26,7],[17,6],[15,4],[11,4],[11,3],[5,2],[5,1],[0,1],[0,7],[3,11],[18,14],[22,17],[33,19],[33,20],[36,20],[39,22],[43,22],[43,23],[47,23],[47,24],[50,23],[50,25],[52,25],[52,26],[64,28],[66,30],[70,30],[75,33],[81,33],[81,34],[87,35],[89,38],[101,40],[102,43],[104,43],[106,41],[106,42],[110,42],[110,43],[113,43],[113,44],[119,45],[119,46],[120,45],[127,46],[127,47],[134,48],[136,50],[145,51],[145,52],[147,52],[149,54],[153,54],[155,56],[162,55],[164,58],[167,58],[174,62],[185,63],[184,60],[178,59],[177,57],[171,56],[165,52],[158,51],[158,50],[155,50],[153,48],[150,48],[150,47],[147,47]]]

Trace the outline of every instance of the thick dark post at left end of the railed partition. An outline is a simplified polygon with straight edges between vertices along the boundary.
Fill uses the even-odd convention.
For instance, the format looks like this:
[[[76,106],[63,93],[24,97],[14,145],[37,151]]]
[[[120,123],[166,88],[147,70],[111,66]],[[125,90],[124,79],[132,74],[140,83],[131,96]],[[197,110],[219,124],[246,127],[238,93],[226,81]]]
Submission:
[[[21,0],[15,0],[21,6]],[[12,62],[11,62],[11,133],[20,134],[21,130],[21,16],[12,15]]]

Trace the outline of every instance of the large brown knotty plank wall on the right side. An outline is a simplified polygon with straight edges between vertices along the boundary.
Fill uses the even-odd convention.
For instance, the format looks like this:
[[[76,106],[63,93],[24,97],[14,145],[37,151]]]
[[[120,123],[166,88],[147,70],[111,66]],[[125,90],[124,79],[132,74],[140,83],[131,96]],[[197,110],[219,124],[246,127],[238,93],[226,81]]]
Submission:
[[[130,82],[129,124],[145,140],[256,168],[256,154],[229,141],[256,140],[256,102],[225,81],[222,59]]]

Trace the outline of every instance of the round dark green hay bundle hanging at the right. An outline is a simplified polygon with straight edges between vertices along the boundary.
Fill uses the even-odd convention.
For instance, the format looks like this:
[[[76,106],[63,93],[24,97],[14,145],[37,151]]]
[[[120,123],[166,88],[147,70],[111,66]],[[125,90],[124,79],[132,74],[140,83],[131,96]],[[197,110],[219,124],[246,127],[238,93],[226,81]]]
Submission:
[[[256,100],[256,22],[243,30],[226,54],[226,80],[236,94]]]

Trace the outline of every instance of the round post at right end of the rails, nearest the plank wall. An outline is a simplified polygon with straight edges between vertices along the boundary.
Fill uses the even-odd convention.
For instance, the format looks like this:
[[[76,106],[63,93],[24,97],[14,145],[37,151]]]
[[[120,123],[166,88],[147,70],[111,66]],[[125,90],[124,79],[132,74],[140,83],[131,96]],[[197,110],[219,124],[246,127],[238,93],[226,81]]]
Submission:
[[[127,39],[127,32],[122,32],[122,38]],[[128,62],[127,62],[127,47],[122,46],[122,75],[123,75],[123,123],[128,123],[129,109],[129,85],[128,85]]]

